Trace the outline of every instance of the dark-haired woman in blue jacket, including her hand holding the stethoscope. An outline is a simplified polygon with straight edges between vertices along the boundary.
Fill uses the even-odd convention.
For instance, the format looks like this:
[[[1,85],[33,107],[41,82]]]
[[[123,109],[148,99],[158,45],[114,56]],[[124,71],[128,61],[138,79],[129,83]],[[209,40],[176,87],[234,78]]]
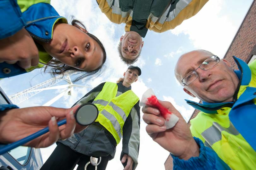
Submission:
[[[71,25],[67,24],[67,19],[59,16],[49,0],[36,2],[44,1],[47,3],[33,5],[35,1],[18,1],[20,6],[16,0],[1,1],[0,78],[44,65],[52,68],[52,74],[80,71],[83,75],[79,79],[98,72],[106,61],[102,43],[88,33],[81,22],[73,20]],[[19,109],[0,100],[0,131],[5,132],[1,133],[0,142],[15,142],[47,126],[49,133],[24,145],[48,147],[58,139],[67,139],[86,127],[76,124],[74,112],[77,108],[39,106]],[[58,127],[60,118],[66,118],[67,124]]]

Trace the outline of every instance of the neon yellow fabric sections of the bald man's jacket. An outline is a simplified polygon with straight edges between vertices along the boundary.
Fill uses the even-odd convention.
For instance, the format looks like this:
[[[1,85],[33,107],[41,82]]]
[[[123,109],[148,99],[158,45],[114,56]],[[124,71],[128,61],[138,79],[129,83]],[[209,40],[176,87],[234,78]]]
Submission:
[[[249,67],[252,73],[251,82],[247,86],[240,87],[238,98],[245,91],[246,87],[256,87],[256,60],[251,63]],[[256,99],[254,99],[253,102],[256,104]],[[224,128],[229,128],[231,123],[229,120],[230,110],[231,108],[225,107],[217,110],[218,114],[198,113],[198,115],[190,121],[192,135],[205,143],[206,140],[203,138],[202,133],[212,127],[213,122],[217,122]],[[256,152],[240,133],[234,135],[223,130],[221,131],[221,140],[212,144],[211,147],[232,169],[240,170],[256,167]]]

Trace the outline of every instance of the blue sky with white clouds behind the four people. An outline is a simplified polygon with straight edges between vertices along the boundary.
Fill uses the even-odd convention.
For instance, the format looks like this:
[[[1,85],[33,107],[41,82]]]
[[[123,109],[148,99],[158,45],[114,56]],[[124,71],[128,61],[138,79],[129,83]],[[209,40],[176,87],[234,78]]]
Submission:
[[[160,100],[170,101],[181,112],[186,121],[189,120],[194,109],[187,105],[184,99],[193,99],[187,95],[174,76],[174,67],[181,54],[195,49],[205,49],[223,58],[230,46],[245,14],[253,0],[212,0],[192,18],[183,21],[175,29],[163,33],[148,31],[143,38],[144,46],[141,57],[134,65],[142,70],[139,80],[132,84],[132,90],[141,98],[148,89],[153,88]],[[118,56],[117,45],[121,35],[125,33],[124,24],[116,25],[101,13],[95,0],[52,0],[51,4],[56,11],[64,17],[81,20],[90,33],[98,37],[106,48],[107,61],[105,71],[89,80],[79,81],[79,85],[96,87],[101,82],[116,82],[127,69]],[[10,96],[22,90],[44,82],[51,77],[42,70],[37,69],[30,73],[5,78],[0,81],[0,86]],[[71,77],[72,78],[72,77]],[[17,85],[18,84],[18,85]],[[61,81],[57,85],[66,84]],[[74,88],[72,96],[65,94],[51,106],[70,108],[77,100],[82,98],[91,88]],[[20,107],[43,105],[63,89],[47,90],[38,93],[32,98],[19,104]],[[142,120],[140,129],[140,150],[138,170],[164,169],[164,162],[168,151],[161,148],[146,133],[146,123]],[[171,140],[171,139],[170,139]],[[119,170],[123,166],[119,160],[122,143],[117,146],[115,158],[108,162],[107,170]],[[56,144],[41,149],[45,162]],[[149,163],[153,162],[153,163]]]

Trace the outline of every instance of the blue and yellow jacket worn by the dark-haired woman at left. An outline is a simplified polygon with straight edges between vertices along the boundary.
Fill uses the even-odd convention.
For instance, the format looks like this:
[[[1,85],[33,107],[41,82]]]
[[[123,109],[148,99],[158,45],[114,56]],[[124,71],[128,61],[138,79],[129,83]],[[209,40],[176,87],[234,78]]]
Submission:
[[[10,0],[0,1],[0,39],[14,35],[23,27],[29,32],[34,40],[50,42],[53,34],[53,26],[56,22],[67,23],[57,11],[49,4],[50,0]],[[39,61],[48,63],[52,57],[47,54],[41,45],[38,45]],[[16,76],[35,68],[42,68],[44,65],[23,69],[17,64],[0,63],[0,78]],[[8,71],[6,71],[8,70]]]

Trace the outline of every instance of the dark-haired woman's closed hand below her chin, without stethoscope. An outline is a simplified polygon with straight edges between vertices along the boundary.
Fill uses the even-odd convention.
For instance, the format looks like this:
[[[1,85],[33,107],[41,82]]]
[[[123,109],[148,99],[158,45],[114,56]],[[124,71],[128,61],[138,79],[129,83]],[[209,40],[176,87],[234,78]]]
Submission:
[[[25,28],[0,40],[0,63],[4,61],[8,64],[18,62],[24,69],[38,65],[38,48]]]

